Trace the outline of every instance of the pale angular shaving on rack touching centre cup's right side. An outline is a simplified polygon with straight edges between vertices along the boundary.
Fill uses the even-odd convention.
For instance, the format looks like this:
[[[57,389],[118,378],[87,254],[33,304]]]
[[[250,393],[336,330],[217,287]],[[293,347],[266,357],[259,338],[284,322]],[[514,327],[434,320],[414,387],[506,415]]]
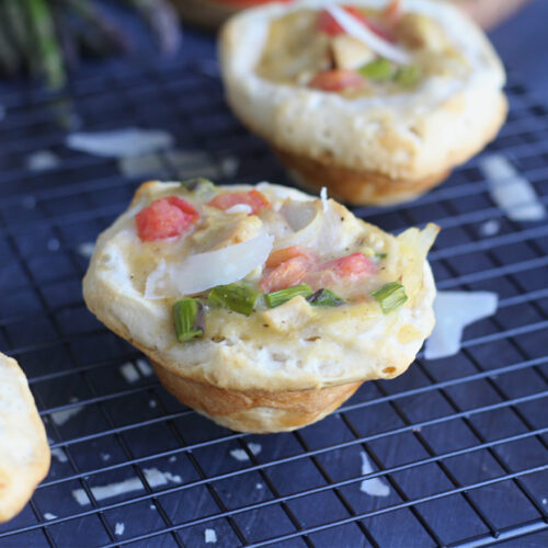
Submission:
[[[457,354],[466,326],[492,316],[498,302],[498,295],[491,292],[438,292],[434,300],[436,326],[426,340],[424,357]]]

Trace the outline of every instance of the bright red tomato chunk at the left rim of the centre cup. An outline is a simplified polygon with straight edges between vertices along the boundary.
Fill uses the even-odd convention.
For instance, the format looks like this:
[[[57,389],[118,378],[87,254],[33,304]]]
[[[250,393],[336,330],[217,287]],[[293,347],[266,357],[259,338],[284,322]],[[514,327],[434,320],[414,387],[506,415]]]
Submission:
[[[139,238],[155,241],[181,236],[198,218],[199,214],[192,204],[178,196],[168,196],[141,209],[135,216],[135,221]]]

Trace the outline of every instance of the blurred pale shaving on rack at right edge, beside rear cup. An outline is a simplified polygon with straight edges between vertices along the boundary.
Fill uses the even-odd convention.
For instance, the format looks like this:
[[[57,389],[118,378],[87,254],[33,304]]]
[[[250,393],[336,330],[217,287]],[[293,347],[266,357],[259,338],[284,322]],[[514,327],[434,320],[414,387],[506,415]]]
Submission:
[[[493,202],[512,220],[539,220],[546,215],[534,186],[502,155],[490,155],[479,162]]]

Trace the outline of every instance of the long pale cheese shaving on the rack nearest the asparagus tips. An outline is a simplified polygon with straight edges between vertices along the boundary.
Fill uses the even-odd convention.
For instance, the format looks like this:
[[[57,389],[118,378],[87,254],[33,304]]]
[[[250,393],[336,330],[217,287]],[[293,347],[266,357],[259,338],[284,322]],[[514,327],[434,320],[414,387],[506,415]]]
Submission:
[[[72,150],[104,158],[130,158],[171,148],[174,141],[174,137],[163,129],[124,127],[69,134],[66,145]]]

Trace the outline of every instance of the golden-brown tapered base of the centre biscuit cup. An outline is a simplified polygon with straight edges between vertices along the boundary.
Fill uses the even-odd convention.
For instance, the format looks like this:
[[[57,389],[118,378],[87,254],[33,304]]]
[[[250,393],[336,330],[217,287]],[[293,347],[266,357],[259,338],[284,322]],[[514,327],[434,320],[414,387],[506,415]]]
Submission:
[[[210,420],[239,432],[272,433],[300,429],[323,419],[362,385],[283,390],[229,390],[197,383],[151,362],[164,388],[179,401]]]

